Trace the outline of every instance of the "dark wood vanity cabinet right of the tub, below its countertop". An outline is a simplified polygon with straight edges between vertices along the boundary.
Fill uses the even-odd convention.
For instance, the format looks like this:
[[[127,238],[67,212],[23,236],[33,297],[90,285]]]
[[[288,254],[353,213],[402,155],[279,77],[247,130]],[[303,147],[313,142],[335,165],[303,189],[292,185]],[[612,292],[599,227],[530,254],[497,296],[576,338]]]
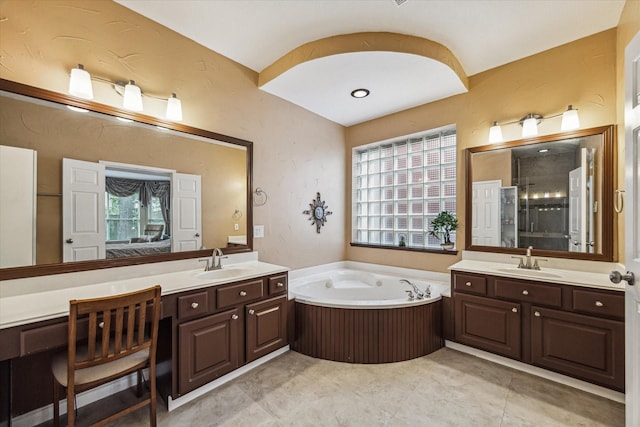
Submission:
[[[454,341],[624,391],[624,294],[452,273]]]

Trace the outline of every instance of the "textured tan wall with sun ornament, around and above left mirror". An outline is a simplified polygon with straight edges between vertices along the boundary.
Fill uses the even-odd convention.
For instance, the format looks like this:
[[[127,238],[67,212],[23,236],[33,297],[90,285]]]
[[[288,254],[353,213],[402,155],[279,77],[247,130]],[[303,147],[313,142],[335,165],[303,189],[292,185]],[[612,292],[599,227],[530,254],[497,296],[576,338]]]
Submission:
[[[94,76],[133,79],[182,100],[184,123],[254,142],[260,259],[300,268],[344,258],[344,128],[257,88],[257,73],[110,1],[0,2],[0,77],[66,93],[77,63]],[[95,100],[119,107],[107,84]],[[165,105],[145,98],[145,114]],[[333,215],[321,234],[302,211],[317,191]]]

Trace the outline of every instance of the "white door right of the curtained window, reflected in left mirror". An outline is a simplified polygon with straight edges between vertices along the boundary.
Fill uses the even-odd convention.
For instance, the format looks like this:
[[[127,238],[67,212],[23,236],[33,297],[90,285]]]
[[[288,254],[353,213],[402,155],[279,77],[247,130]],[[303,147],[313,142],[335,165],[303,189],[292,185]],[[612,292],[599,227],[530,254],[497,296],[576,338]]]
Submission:
[[[171,251],[195,251],[202,246],[200,175],[174,173],[171,182]]]

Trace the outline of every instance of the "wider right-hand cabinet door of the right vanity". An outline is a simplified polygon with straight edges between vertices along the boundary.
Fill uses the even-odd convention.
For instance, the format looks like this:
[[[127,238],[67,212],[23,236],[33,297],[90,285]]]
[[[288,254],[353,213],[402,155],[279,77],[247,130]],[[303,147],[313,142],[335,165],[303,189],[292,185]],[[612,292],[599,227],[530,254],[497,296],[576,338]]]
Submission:
[[[531,362],[624,391],[624,322],[532,307]]]

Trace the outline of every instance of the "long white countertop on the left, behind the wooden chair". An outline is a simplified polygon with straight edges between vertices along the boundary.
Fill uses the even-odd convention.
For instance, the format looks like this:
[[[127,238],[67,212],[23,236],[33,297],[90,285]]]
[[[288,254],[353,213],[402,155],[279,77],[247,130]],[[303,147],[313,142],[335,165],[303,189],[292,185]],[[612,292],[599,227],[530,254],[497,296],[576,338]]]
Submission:
[[[227,269],[225,271],[225,269]],[[239,280],[247,280],[255,277],[288,271],[287,267],[268,264],[260,261],[246,261],[223,267],[225,271],[215,277],[212,272],[209,278],[201,278],[203,270],[185,270],[165,272],[162,274],[143,275],[103,281],[100,283],[70,285],[68,287],[40,285],[41,289],[29,292],[3,292],[0,293],[0,329],[19,326],[42,320],[54,319],[69,315],[69,301],[72,299],[97,298],[120,293],[132,292],[153,285],[162,287],[162,295],[209,286],[222,285]],[[11,285],[3,283],[2,286]],[[19,286],[19,284],[13,284]]]

